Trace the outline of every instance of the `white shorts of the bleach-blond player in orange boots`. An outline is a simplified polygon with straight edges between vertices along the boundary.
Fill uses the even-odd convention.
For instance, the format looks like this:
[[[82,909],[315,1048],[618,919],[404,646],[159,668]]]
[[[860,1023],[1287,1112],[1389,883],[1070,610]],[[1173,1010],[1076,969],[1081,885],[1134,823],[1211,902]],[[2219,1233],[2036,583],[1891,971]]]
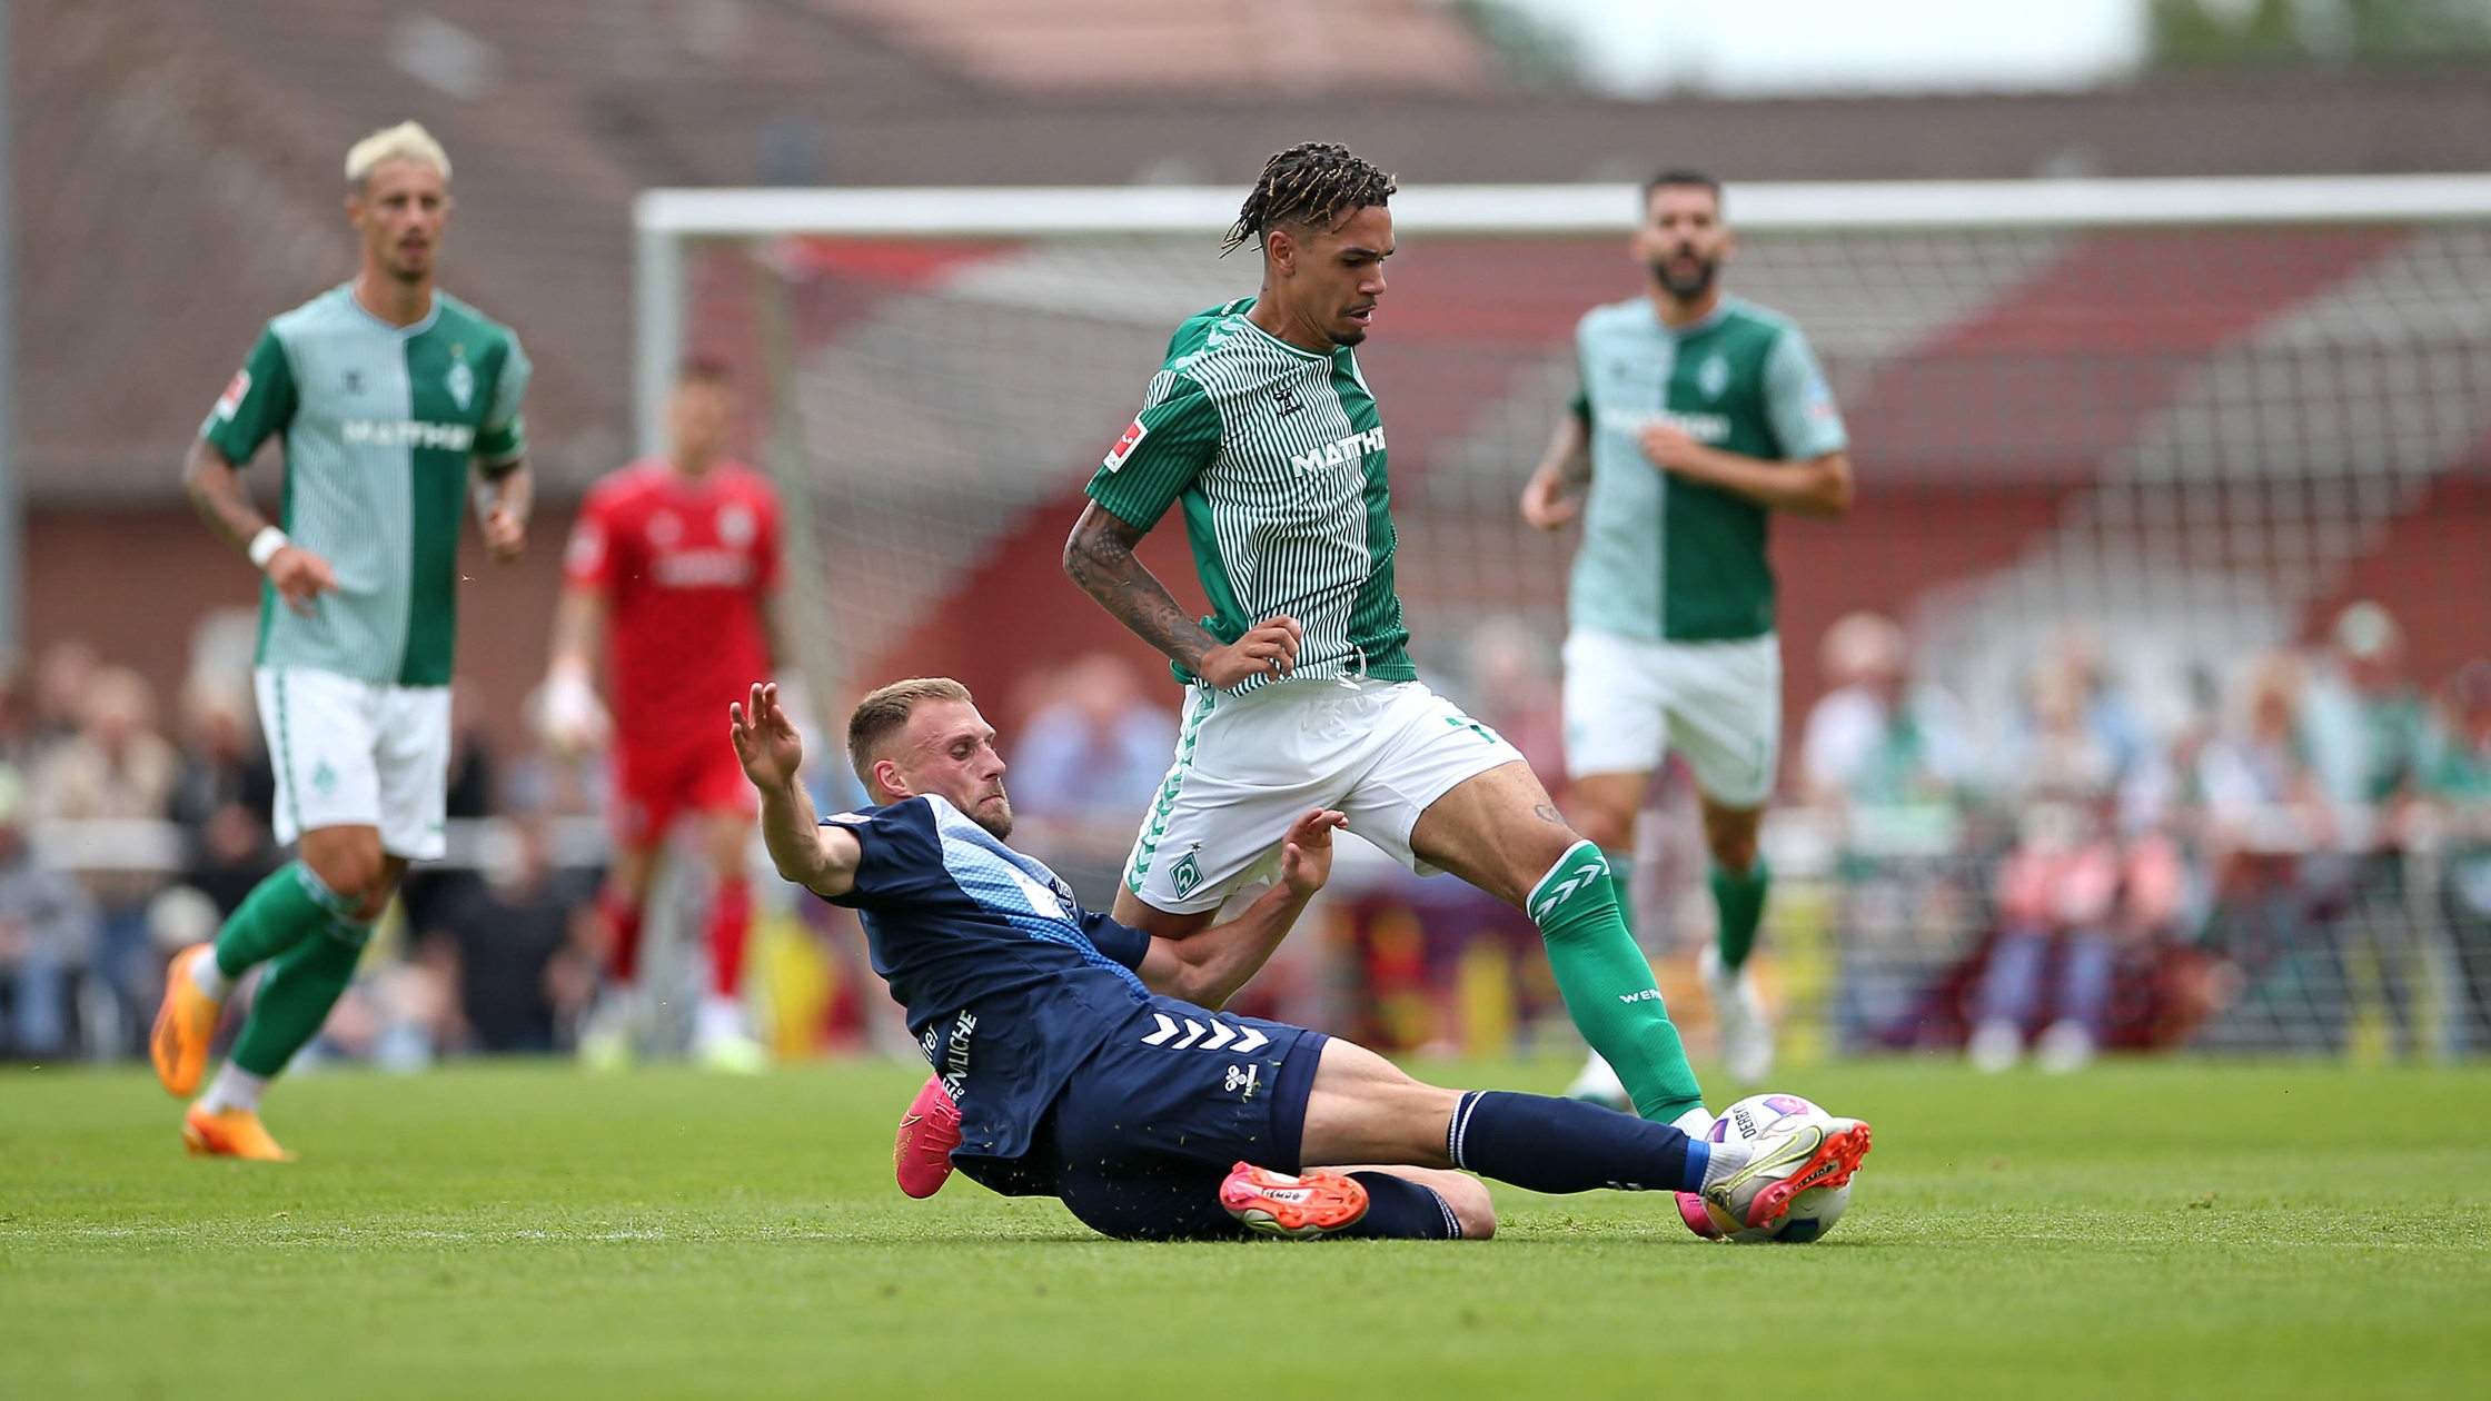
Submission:
[[[277,840],[379,828],[381,850],[441,860],[451,688],[374,686],[309,666],[252,671],[277,770]]]

